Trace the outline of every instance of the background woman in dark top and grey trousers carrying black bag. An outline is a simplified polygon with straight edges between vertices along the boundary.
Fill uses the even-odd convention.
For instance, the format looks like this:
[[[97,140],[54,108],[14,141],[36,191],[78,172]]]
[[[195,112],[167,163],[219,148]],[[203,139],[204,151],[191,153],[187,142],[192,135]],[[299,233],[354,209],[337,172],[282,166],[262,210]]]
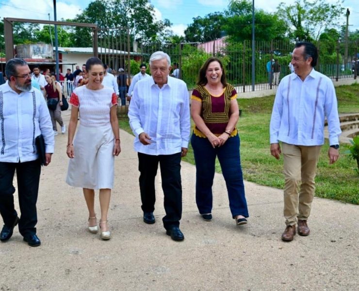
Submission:
[[[50,98],[53,98],[57,101],[55,110],[49,108],[53,133],[54,135],[57,135],[57,126],[56,126],[56,121],[57,121],[61,126],[61,133],[64,134],[66,132],[66,126],[61,117],[61,105],[62,105],[63,96],[62,96],[60,83],[56,81],[55,74],[46,75],[45,80],[48,82],[48,84],[45,86],[46,99],[48,100]]]

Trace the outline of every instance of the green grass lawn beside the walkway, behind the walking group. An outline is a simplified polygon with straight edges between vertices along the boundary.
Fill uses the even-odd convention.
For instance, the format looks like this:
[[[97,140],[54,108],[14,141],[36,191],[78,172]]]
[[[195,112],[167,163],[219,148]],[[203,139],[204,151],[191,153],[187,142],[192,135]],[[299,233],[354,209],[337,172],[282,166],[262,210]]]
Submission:
[[[336,92],[339,113],[359,113],[359,84],[336,87]],[[283,159],[276,160],[269,150],[269,122],[274,96],[238,101],[242,109],[237,128],[241,137],[244,178],[261,185],[283,189]],[[123,116],[119,120],[120,128],[131,132],[127,117]],[[359,176],[354,171],[357,165],[345,154],[349,145],[341,145],[340,159],[333,165],[329,165],[328,147],[326,141],[318,162],[315,195],[359,204]],[[194,164],[191,146],[184,161]],[[216,171],[221,173],[218,161]]]

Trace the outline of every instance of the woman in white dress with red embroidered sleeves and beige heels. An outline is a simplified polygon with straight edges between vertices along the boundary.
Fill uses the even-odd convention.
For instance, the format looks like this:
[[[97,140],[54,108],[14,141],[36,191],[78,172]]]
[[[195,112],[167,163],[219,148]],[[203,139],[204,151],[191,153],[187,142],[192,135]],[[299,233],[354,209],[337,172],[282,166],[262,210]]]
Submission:
[[[70,158],[66,183],[83,188],[89,210],[88,230],[98,232],[95,214],[95,189],[99,189],[101,238],[111,237],[107,224],[111,189],[114,184],[114,156],[121,151],[117,120],[117,96],[104,87],[103,64],[92,57],[86,62],[88,83],[75,88],[68,126],[67,156]],[[74,139],[78,117],[80,126]]]

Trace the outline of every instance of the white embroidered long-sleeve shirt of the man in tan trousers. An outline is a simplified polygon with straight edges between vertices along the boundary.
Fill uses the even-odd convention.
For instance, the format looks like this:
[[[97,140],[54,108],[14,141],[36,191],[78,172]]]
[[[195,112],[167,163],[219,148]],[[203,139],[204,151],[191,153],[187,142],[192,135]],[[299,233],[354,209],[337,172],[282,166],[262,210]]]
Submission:
[[[333,82],[311,70],[302,81],[295,73],[279,83],[270,122],[270,143],[282,141],[296,146],[324,144],[324,122],[328,122],[329,144],[339,144],[341,134],[338,103]]]

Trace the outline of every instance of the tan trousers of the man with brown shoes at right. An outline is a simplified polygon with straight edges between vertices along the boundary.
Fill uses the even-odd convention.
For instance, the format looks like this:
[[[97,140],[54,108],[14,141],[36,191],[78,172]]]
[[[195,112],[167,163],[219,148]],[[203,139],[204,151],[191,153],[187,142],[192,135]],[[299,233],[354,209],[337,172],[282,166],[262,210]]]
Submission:
[[[321,146],[294,146],[282,143],[284,158],[284,218],[286,225],[307,220],[314,197],[315,170]],[[300,191],[298,186],[300,181]]]

